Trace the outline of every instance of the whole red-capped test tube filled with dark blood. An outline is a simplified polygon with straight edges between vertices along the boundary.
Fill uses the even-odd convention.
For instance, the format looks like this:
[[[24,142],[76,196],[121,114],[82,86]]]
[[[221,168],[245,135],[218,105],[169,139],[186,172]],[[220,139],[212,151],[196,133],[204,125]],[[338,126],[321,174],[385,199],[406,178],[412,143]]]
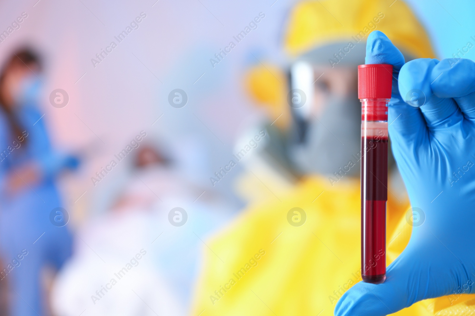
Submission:
[[[361,278],[386,280],[388,200],[388,102],[392,65],[358,66],[361,100]]]

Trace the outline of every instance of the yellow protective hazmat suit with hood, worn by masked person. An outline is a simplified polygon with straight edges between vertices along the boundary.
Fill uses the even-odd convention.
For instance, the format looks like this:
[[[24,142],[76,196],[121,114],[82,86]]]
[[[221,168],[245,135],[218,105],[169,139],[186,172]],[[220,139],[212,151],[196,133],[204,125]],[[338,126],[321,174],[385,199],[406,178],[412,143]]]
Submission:
[[[291,13],[285,48],[292,55],[305,54],[352,36],[365,37],[374,28],[406,54],[434,56],[426,32],[401,0],[301,2]],[[250,73],[253,84],[266,78],[263,72]],[[264,82],[265,89],[250,90],[259,91],[258,100],[280,107],[269,111],[276,115],[285,93],[280,82],[273,91],[270,76]],[[251,206],[206,242],[191,315],[333,315],[338,298],[361,281],[359,179],[343,177],[332,185],[315,175],[283,190],[278,181],[268,180],[272,178],[259,176],[260,192],[266,192],[262,195],[255,184],[244,184],[253,191]],[[397,188],[389,191],[387,264],[406,247],[412,228],[406,220],[407,197],[393,195]],[[474,304],[475,295],[451,295],[418,302],[395,315],[475,315]]]

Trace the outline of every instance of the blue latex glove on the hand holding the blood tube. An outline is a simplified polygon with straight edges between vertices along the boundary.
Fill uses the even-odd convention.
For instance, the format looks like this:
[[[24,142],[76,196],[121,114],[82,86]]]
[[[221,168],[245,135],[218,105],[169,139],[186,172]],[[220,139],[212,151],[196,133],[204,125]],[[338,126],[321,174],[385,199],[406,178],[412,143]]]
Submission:
[[[337,316],[388,315],[425,298],[475,292],[475,63],[405,64],[380,31],[368,36],[366,63],[394,66],[392,151],[425,222],[413,227],[386,281],[355,284],[338,301]]]

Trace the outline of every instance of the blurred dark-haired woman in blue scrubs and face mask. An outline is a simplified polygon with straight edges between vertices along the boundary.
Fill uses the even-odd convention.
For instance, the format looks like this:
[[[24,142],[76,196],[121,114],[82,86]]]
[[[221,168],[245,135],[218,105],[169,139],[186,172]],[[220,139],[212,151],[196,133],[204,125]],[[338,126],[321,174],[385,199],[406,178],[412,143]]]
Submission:
[[[45,270],[59,270],[71,254],[56,179],[78,160],[50,144],[40,78],[30,49],[14,52],[0,73],[0,274],[12,316],[48,314]]]

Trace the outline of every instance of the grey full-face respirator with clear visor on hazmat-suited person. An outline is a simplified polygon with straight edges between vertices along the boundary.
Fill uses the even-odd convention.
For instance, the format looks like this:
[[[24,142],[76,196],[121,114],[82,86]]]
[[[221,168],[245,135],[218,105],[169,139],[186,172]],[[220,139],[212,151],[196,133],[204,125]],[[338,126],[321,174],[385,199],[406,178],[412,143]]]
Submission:
[[[357,176],[361,150],[361,104],[357,65],[365,43],[339,43],[315,49],[290,68],[288,103],[295,125],[290,160],[303,173],[333,175],[340,168]]]

